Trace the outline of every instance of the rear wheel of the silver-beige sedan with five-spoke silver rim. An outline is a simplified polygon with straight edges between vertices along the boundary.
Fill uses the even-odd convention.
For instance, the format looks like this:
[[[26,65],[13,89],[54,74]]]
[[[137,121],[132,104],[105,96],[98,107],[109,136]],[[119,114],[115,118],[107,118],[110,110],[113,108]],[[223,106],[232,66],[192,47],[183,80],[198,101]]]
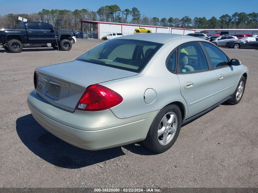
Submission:
[[[182,114],[177,105],[168,105],[154,118],[143,144],[150,150],[162,153],[175,143],[182,124]]]

